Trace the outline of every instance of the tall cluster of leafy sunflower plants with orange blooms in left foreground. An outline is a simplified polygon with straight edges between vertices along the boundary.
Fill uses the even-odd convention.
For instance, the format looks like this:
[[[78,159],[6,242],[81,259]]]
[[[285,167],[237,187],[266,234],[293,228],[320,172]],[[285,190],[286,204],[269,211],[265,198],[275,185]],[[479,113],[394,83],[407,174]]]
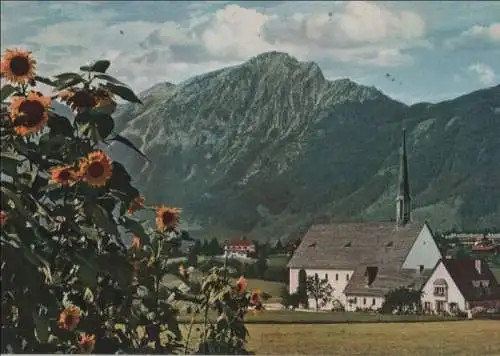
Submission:
[[[217,308],[216,323],[200,332],[202,353],[243,353],[244,315],[258,310],[258,294],[233,286],[220,268],[201,283],[168,263],[178,250],[180,209],[150,206],[132,177],[100,147],[127,145],[116,134],[115,98],[141,101],[106,74],[100,60],[45,78],[30,52],[6,50],[1,74],[2,352],[188,352],[172,302]],[[52,97],[37,83],[54,89]],[[4,101],[10,98],[10,102]],[[73,119],[51,110],[65,103]],[[6,107],[7,104],[8,107]],[[155,228],[134,218],[150,211]],[[133,234],[123,243],[123,231]],[[187,288],[162,285],[174,273]]]

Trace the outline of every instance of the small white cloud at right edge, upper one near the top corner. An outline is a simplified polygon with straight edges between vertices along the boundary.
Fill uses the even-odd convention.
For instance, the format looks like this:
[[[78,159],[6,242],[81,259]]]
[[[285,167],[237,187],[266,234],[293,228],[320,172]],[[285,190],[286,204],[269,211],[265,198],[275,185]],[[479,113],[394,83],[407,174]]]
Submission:
[[[445,41],[445,46],[449,49],[464,47],[470,49],[470,47],[491,44],[500,48],[500,22],[488,26],[473,25],[459,36]]]

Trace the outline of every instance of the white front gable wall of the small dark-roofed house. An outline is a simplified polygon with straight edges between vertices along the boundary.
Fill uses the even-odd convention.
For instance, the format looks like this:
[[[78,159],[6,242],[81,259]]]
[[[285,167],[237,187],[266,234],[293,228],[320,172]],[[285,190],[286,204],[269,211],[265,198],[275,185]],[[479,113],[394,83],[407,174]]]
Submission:
[[[440,278],[444,279],[446,283],[448,283],[448,293],[444,297],[434,296],[434,282]],[[460,293],[460,290],[458,289],[457,285],[451,278],[450,274],[448,273],[442,262],[439,263],[439,266],[437,266],[434,273],[427,280],[422,291],[423,291],[422,307],[425,305],[425,302],[430,302],[431,310],[435,311],[436,301],[442,300],[446,303],[445,304],[446,311],[449,311],[450,303],[457,303],[458,308],[462,311],[467,310],[465,298]]]

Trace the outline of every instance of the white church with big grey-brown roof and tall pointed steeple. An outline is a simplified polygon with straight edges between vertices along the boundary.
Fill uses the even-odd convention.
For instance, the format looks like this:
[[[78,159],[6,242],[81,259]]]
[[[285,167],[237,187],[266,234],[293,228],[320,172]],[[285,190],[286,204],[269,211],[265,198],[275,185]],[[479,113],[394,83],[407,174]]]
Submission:
[[[411,219],[403,130],[396,221],[311,226],[288,263],[289,291],[297,291],[299,277],[317,274],[333,287],[332,302],[324,309],[341,303],[348,311],[376,310],[392,289],[420,289],[441,258],[429,225]]]

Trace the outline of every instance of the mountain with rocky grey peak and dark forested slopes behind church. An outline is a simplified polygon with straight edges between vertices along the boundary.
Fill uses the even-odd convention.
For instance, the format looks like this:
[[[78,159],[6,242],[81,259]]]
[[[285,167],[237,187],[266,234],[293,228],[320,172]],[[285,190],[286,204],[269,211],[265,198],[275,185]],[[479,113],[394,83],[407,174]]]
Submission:
[[[153,163],[121,145],[112,154],[151,203],[183,207],[207,234],[272,239],[329,220],[393,219],[403,126],[414,218],[500,226],[500,86],[406,106],[270,52],[141,99],[120,107],[117,130]]]

